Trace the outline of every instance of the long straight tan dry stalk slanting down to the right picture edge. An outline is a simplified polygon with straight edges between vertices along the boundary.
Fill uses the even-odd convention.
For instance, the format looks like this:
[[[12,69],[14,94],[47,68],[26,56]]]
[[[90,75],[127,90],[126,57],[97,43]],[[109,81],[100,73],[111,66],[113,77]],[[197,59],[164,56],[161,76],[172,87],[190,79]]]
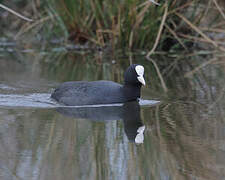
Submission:
[[[175,12],[175,14],[181,18],[186,24],[188,24],[193,30],[195,30],[198,34],[200,34],[206,41],[208,41],[209,43],[211,43],[214,47],[219,48],[222,51],[225,51],[225,48],[219,46],[215,41],[213,41],[212,39],[210,39],[207,35],[205,35],[197,26],[195,26],[194,24],[192,24],[188,19],[186,19],[183,15],[181,15],[180,13]]]

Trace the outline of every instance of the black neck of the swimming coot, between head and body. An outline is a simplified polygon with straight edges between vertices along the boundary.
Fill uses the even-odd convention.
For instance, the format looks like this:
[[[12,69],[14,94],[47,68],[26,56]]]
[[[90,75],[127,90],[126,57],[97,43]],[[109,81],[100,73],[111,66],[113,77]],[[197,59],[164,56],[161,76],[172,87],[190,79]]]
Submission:
[[[123,85],[124,96],[127,101],[135,101],[141,96],[141,84],[127,84]]]

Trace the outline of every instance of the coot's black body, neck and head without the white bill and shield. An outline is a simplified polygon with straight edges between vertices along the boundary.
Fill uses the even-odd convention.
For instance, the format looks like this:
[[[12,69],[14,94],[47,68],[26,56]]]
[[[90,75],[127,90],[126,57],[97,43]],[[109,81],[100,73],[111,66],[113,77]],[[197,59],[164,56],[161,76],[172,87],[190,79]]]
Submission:
[[[141,86],[138,68],[133,64],[125,72],[124,85],[112,81],[74,81],[61,84],[51,95],[59,103],[69,106],[124,103],[140,98]],[[142,71],[142,70],[141,70]],[[144,73],[144,70],[143,70]],[[141,78],[143,78],[143,73]]]

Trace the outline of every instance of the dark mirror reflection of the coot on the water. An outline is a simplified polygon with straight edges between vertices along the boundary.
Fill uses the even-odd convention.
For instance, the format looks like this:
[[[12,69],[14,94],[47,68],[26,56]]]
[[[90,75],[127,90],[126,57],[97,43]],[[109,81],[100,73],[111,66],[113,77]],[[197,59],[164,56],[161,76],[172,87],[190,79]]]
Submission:
[[[123,120],[128,140],[137,144],[144,141],[145,126],[141,122],[140,105],[137,101],[126,102],[123,106],[59,107],[57,111],[68,117],[92,121]]]

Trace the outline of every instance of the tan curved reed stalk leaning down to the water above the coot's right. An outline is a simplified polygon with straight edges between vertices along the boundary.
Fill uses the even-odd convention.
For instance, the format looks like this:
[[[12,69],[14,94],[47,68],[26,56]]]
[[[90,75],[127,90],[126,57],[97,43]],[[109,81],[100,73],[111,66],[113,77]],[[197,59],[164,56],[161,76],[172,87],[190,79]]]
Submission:
[[[153,48],[151,49],[151,51],[148,52],[146,57],[150,57],[151,56],[151,54],[155,51],[155,49],[156,49],[156,47],[157,47],[157,45],[159,43],[160,36],[161,36],[162,30],[163,30],[163,26],[164,26],[165,21],[166,21],[167,13],[168,13],[168,3],[166,2],[165,3],[165,11],[164,11],[164,14],[163,14],[163,17],[162,17],[162,22],[160,24],[159,31],[158,31],[155,43],[153,45]]]

